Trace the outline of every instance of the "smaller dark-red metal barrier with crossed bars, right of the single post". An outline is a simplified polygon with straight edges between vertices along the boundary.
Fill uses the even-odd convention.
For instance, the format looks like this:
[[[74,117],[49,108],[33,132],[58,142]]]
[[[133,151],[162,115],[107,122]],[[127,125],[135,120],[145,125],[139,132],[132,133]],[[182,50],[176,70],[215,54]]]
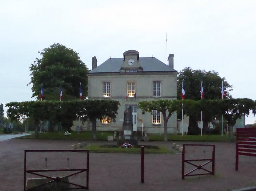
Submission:
[[[211,159],[190,159],[190,160],[185,160],[185,148],[186,146],[212,146],[213,147],[213,155]],[[192,162],[194,161],[207,161],[206,163],[202,165],[196,165],[193,164]],[[191,170],[190,172],[185,174],[185,162],[188,164],[191,164],[192,166],[195,166],[196,168]],[[212,162],[212,171],[207,170],[205,168],[202,168],[206,164]],[[202,169],[207,171],[208,173],[203,173],[203,174],[191,174],[192,172],[196,171],[197,169]],[[215,145],[211,144],[183,144],[183,152],[182,152],[182,172],[181,172],[181,178],[184,179],[185,176],[197,176],[197,175],[214,175],[215,173]]]

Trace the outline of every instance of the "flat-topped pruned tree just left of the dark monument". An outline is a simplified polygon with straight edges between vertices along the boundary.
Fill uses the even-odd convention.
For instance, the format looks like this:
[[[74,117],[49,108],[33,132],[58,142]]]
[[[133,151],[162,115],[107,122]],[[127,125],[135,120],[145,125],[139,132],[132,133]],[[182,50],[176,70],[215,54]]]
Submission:
[[[115,122],[119,101],[114,100],[87,100],[79,102],[78,116],[84,117],[83,122],[88,118],[92,122],[93,139],[96,139],[96,119],[107,118]]]

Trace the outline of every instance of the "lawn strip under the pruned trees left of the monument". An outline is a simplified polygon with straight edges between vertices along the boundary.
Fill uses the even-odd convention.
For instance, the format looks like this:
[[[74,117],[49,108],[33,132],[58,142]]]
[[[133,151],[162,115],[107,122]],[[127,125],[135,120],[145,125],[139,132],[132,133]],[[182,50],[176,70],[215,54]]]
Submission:
[[[108,136],[114,135],[112,132],[107,131],[97,131],[96,139],[97,140],[108,140]],[[27,135],[24,136],[25,139],[34,139],[35,135]],[[60,139],[60,140],[90,140],[92,139],[91,131],[81,131],[80,134],[78,132],[72,132],[71,135],[65,136],[64,132],[45,132],[39,133],[39,139]]]

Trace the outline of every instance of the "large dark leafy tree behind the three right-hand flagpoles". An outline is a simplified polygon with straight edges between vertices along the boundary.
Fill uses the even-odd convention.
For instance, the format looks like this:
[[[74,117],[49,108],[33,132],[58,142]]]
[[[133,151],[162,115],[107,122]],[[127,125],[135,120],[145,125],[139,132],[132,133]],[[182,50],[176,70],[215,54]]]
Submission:
[[[185,89],[185,99],[201,100],[201,81],[203,81],[204,99],[215,100],[221,98],[222,81],[224,81],[224,89],[231,88],[225,78],[221,78],[218,72],[193,70],[190,67],[184,68],[177,77],[177,99],[181,100],[182,81]],[[226,98],[231,97],[227,92]],[[186,112],[184,112],[185,114]],[[178,111],[178,118],[181,117],[181,112]],[[186,113],[188,115],[188,113]],[[208,127],[208,122],[213,120],[214,116],[204,115],[204,128]],[[201,111],[193,113],[189,116],[188,134],[198,134],[198,120],[201,120]]]

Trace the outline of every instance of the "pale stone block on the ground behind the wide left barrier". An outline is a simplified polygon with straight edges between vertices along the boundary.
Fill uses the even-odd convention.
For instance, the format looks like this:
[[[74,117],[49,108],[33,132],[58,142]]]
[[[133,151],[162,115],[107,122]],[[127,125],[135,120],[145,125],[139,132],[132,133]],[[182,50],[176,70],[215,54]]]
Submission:
[[[56,178],[56,177],[53,177],[53,178]],[[62,177],[59,177],[59,178],[62,178]],[[56,178],[59,179],[58,177]],[[68,177],[65,177],[63,179],[60,179],[60,182],[56,181],[56,182],[53,182],[53,183],[50,183],[50,184],[46,184],[47,182],[49,181],[52,181],[53,179],[50,179],[50,178],[27,178],[27,181],[26,181],[26,189],[32,189],[36,186],[40,186],[42,184],[45,184],[43,186],[40,186],[36,189],[33,189],[35,191],[44,191],[44,190],[63,190],[63,189],[69,189],[70,188],[70,184],[67,184],[67,183],[62,183],[62,181],[65,181],[65,182],[69,182],[68,180]]]

